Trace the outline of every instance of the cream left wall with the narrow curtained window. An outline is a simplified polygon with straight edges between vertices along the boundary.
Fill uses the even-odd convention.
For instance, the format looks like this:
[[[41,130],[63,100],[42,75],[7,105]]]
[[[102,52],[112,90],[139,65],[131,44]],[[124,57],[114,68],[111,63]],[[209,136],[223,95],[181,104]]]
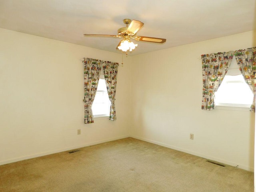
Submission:
[[[0,164],[128,136],[129,57],[118,69],[117,120],[84,124],[82,58],[121,64],[122,55],[4,29],[0,42]]]

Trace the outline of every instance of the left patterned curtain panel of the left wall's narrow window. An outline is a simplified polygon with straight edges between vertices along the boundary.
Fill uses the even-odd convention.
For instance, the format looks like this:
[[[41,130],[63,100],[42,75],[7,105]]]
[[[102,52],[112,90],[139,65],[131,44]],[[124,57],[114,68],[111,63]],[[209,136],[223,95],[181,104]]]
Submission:
[[[84,124],[94,123],[92,103],[97,91],[101,66],[100,60],[84,58]]]

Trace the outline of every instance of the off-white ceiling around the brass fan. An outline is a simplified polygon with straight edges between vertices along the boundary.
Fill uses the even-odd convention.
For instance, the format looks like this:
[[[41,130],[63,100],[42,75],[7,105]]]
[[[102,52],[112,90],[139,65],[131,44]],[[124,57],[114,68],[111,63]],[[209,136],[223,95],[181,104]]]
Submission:
[[[137,42],[130,55],[142,54],[256,29],[256,0],[0,0],[0,28],[116,50],[123,19],[140,20],[138,35],[166,43]],[[135,42],[135,41],[134,41]]]

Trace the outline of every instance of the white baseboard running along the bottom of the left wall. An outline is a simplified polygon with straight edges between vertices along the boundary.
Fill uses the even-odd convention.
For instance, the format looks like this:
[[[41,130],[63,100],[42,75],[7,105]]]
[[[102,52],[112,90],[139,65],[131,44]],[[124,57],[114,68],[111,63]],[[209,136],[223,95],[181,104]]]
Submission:
[[[48,151],[48,152],[32,154],[32,155],[28,155],[28,156],[19,157],[19,158],[13,158],[13,159],[10,159],[10,160],[1,161],[0,165],[13,163],[13,162],[18,162],[18,161],[31,159],[31,158],[36,158],[36,157],[41,157],[41,156],[45,156],[45,155],[50,155],[50,154],[54,154],[54,153],[64,152],[64,151],[73,150],[73,149],[77,149],[77,148],[92,146],[92,145],[105,143],[105,142],[109,142],[109,141],[114,141],[114,140],[118,140],[118,139],[123,139],[123,138],[127,138],[127,137],[130,137],[130,136],[125,135],[125,136],[120,136],[120,137],[116,137],[116,138],[110,138],[110,139],[106,139],[106,140],[100,140],[100,141],[96,141],[96,142],[92,142],[92,143],[87,143],[87,144],[83,144],[83,145],[80,145],[80,146],[72,146],[72,147],[68,147],[68,148],[62,148],[62,149],[58,149],[58,150],[52,150],[52,151]]]

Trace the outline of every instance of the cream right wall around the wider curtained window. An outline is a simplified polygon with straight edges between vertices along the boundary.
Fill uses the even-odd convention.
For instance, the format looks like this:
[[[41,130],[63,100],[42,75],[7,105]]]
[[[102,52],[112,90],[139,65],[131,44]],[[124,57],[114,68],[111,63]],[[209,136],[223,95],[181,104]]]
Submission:
[[[253,35],[246,32],[133,56],[131,135],[253,170],[255,114],[201,110],[200,59],[202,54],[253,47]]]

